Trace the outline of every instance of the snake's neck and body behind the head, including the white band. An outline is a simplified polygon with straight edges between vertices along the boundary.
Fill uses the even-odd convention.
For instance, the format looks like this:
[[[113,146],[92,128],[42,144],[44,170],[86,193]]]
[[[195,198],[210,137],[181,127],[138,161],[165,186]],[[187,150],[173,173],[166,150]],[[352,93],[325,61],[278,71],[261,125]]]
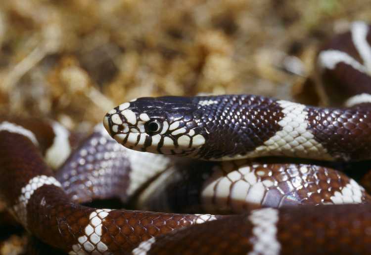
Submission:
[[[198,98],[206,142],[195,156],[234,160],[288,156],[317,160],[370,157],[368,107],[331,109],[255,95]]]

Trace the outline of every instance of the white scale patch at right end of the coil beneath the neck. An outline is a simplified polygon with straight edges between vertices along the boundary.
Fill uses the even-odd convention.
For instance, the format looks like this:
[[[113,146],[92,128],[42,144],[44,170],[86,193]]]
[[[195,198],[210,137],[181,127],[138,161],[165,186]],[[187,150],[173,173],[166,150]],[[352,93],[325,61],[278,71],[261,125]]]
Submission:
[[[353,179],[341,189],[341,192],[335,191],[331,196],[334,204],[358,204],[362,203],[362,197],[365,189]]]

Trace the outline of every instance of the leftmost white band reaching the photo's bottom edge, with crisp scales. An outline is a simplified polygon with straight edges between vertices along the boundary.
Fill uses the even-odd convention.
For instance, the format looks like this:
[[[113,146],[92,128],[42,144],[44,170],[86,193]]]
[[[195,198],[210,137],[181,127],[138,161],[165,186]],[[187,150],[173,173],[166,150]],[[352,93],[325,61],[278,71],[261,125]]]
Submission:
[[[72,251],[69,254],[111,254],[108,247],[101,240],[102,224],[108,216],[111,209],[97,209],[89,216],[90,222],[85,227],[85,234],[80,236],[77,240],[79,243],[72,246]]]

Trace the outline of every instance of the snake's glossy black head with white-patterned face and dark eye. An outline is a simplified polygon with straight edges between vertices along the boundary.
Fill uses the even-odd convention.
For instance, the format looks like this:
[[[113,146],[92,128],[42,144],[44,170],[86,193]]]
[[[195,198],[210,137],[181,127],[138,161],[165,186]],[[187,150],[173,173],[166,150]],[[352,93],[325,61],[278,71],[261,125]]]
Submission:
[[[192,98],[144,97],[110,110],[103,124],[128,148],[187,156],[205,144],[207,132],[198,121],[201,114]]]

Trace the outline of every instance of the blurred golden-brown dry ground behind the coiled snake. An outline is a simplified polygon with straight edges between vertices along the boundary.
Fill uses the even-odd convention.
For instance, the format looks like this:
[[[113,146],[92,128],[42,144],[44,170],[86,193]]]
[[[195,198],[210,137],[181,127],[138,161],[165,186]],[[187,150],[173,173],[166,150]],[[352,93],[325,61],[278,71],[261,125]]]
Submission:
[[[371,20],[369,1],[2,0],[0,114],[84,132],[141,96],[248,93],[316,104],[304,85],[317,49],[355,20]],[[0,254],[27,242],[0,237]]]

